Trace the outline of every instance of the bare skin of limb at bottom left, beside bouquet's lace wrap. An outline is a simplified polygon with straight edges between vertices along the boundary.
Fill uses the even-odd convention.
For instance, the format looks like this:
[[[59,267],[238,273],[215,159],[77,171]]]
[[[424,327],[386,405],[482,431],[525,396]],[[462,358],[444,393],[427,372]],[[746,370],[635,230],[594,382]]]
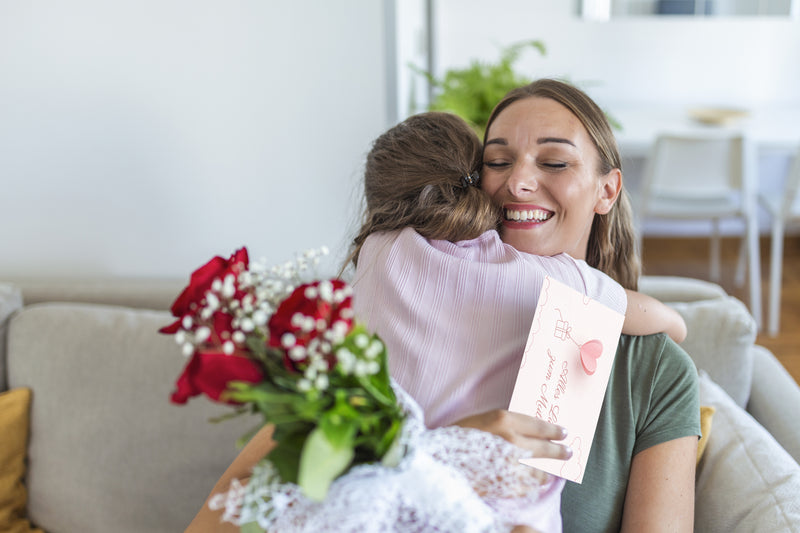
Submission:
[[[238,533],[239,526],[235,526],[230,522],[222,522],[222,511],[212,511],[208,507],[208,501],[212,496],[220,492],[225,492],[230,488],[231,481],[238,479],[245,481],[250,477],[253,467],[261,459],[264,458],[275,447],[275,441],[272,440],[272,432],[275,426],[264,426],[256,433],[250,442],[239,452],[236,459],[233,460],[231,465],[219,478],[217,484],[211,490],[206,501],[203,502],[203,507],[195,515],[192,523],[186,528],[185,533]]]

